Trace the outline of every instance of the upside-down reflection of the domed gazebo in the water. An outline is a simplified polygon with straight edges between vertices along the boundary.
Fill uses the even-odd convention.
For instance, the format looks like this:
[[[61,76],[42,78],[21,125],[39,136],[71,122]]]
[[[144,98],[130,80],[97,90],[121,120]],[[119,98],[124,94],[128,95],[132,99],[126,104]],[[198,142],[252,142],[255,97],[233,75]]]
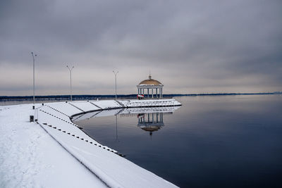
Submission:
[[[141,113],[138,114],[138,127],[142,130],[152,132],[159,130],[164,126],[163,113]]]

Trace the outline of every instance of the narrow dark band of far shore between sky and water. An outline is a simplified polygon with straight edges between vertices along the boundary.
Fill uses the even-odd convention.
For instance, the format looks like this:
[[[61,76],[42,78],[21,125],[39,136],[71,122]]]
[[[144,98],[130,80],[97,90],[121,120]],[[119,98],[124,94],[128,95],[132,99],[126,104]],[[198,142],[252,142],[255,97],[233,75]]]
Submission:
[[[214,93],[214,94],[164,94],[164,97],[173,96],[216,96],[216,95],[256,95],[256,94],[282,94],[282,92],[259,92],[259,93]],[[136,94],[74,94],[73,99],[88,99],[88,98],[114,98],[117,97],[135,97]],[[64,95],[39,95],[35,96],[37,99],[68,99],[69,94]],[[0,96],[0,100],[3,99],[33,99],[33,96]]]

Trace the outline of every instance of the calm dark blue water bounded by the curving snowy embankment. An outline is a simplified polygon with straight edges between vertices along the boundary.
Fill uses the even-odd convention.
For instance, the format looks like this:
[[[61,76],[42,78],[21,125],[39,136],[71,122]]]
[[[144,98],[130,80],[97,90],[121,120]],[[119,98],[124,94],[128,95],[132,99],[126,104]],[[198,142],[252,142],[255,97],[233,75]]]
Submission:
[[[179,187],[282,187],[282,96],[185,96],[173,113],[76,122]]]

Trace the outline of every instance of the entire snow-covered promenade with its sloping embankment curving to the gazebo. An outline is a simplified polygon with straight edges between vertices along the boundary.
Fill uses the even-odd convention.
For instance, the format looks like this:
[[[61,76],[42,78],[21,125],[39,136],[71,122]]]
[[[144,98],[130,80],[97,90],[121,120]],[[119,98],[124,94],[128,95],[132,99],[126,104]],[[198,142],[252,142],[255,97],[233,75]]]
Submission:
[[[161,99],[36,104],[35,110],[32,104],[0,106],[0,187],[175,187],[88,137],[71,118],[179,105]]]

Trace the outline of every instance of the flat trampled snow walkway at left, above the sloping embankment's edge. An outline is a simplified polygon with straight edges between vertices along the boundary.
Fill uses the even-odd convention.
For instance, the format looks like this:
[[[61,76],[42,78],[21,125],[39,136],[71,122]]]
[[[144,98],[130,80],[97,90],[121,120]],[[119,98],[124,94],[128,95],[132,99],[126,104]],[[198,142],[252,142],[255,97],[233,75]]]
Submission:
[[[37,123],[31,104],[0,106],[0,187],[106,187]]]

